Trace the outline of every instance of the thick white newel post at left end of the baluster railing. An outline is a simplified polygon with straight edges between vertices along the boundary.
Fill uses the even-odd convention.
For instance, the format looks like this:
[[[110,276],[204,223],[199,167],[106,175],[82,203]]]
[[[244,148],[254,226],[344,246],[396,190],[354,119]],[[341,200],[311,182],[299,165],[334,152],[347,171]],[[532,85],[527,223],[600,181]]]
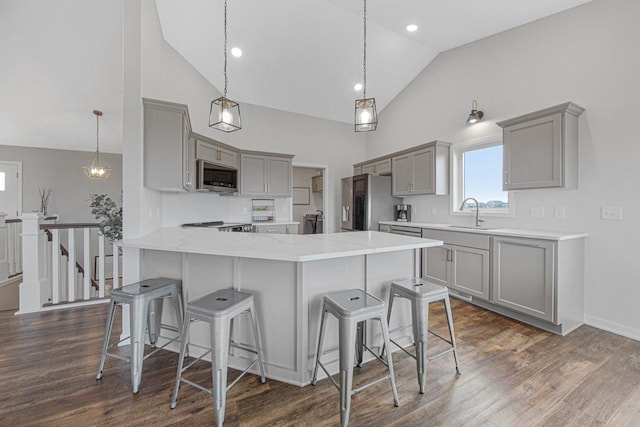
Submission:
[[[46,293],[42,292],[43,286],[47,285],[42,259],[44,245],[41,242],[46,239],[43,239],[44,231],[40,230],[42,218],[38,213],[22,215],[22,283],[18,314],[39,311],[47,300]]]

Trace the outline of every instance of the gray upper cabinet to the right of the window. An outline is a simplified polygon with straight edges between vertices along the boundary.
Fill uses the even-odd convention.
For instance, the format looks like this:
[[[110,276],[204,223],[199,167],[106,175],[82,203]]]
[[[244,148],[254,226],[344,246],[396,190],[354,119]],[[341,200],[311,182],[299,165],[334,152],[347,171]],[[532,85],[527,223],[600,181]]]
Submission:
[[[566,102],[497,123],[503,128],[503,190],[577,188],[583,111]]]

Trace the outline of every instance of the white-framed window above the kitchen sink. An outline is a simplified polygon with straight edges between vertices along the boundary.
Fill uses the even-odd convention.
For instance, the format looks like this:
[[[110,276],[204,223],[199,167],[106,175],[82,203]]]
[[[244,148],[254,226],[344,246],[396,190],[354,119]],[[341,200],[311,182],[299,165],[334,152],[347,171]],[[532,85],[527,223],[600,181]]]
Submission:
[[[482,214],[512,215],[513,200],[502,191],[502,140],[490,138],[480,143],[461,144],[453,149],[455,162],[455,196],[453,212],[460,212],[463,200],[478,200]],[[511,202],[511,203],[510,203]],[[475,208],[473,201],[465,202],[465,211]]]

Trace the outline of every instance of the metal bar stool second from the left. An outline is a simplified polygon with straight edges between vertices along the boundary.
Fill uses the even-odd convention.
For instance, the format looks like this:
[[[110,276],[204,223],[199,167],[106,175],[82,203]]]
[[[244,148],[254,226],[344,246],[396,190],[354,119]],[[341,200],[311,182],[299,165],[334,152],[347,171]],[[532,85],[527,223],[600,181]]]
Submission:
[[[256,348],[252,349],[233,341],[233,319],[242,313],[249,313],[253,326],[253,336]],[[191,320],[201,320],[209,322],[211,333],[211,349],[206,353],[184,366],[184,358],[187,348],[189,324]],[[253,295],[246,292],[239,292],[234,289],[222,289],[205,295],[187,304],[187,310],[182,326],[182,345],[180,346],[180,360],[178,361],[178,372],[176,375],[176,386],[171,398],[171,409],[178,404],[178,389],[180,382],[187,383],[199,390],[213,396],[216,424],[222,426],[224,422],[224,411],[227,391],[242,378],[251,367],[258,362],[260,367],[260,381],[266,382],[264,376],[264,365],[262,363],[262,344],[260,340],[260,330],[255,312]],[[229,385],[227,385],[227,369],[229,362],[229,350],[231,347],[238,348],[257,355],[257,358]],[[211,353],[211,377],[213,388],[208,389],[200,384],[183,378],[184,372],[193,364]]]

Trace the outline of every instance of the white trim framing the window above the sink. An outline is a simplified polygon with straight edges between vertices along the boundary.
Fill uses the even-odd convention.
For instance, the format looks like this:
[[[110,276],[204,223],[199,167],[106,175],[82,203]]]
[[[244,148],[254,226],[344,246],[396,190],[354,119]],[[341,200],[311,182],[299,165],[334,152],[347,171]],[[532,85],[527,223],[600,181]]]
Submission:
[[[477,150],[481,148],[493,147],[502,144],[502,133],[486,135],[469,141],[460,142],[451,146],[450,168],[451,168],[451,205],[449,213],[455,216],[472,216],[475,215],[474,210],[461,211],[462,203],[462,154],[471,149]],[[480,208],[480,215],[495,218],[514,218],[515,217],[515,192],[509,191],[509,208],[496,210],[490,208]]]

